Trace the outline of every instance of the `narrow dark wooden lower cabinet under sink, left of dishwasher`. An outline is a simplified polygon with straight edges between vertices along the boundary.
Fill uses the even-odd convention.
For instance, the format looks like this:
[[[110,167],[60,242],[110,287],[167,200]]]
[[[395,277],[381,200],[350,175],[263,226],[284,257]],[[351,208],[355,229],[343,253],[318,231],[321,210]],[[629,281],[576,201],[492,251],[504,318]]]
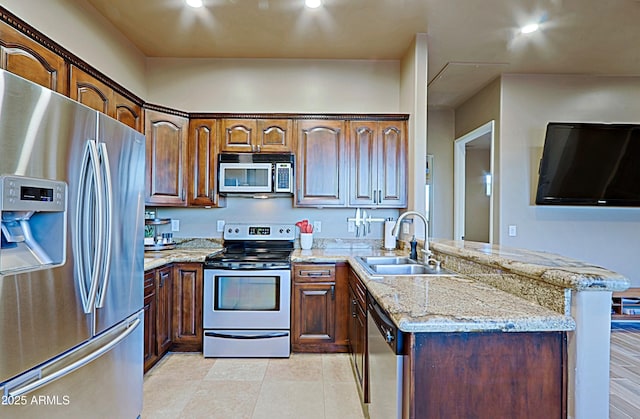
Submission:
[[[367,291],[360,278],[349,270],[349,353],[360,398],[369,402],[367,358]]]

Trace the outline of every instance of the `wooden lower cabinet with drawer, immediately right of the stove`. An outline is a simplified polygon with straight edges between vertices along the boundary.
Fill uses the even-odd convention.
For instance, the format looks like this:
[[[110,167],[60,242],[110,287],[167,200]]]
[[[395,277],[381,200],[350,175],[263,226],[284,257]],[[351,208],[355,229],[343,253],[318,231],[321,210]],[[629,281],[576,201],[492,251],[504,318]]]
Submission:
[[[348,270],[344,263],[293,265],[293,352],[348,351]]]

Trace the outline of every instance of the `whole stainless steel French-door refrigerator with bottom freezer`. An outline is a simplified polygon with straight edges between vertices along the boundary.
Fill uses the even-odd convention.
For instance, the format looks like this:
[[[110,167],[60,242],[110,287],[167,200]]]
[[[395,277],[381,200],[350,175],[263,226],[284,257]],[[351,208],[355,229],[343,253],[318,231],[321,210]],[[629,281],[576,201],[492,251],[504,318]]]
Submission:
[[[144,152],[0,70],[0,417],[140,416]]]

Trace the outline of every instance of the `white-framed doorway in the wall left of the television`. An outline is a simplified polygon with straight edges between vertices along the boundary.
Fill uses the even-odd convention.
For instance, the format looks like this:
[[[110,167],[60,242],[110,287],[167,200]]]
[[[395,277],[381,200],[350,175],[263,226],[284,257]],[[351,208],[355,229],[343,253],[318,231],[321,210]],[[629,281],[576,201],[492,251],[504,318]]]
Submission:
[[[455,141],[455,240],[493,243],[493,146],[494,121]]]

